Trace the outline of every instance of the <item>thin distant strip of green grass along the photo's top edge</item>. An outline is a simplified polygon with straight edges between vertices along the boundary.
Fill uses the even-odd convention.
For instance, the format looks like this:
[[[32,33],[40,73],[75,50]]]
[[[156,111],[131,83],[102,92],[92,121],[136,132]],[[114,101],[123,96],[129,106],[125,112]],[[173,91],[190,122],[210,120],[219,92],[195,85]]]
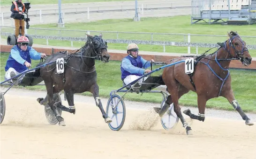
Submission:
[[[13,0],[1,0],[1,6],[11,5]],[[23,3],[27,0],[23,0]],[[111,1],[131,1],[131,0],[61,0],[61,4],[64,3],[88,3],[88,2],[111,2]],[[34,4],[58,4],[58,0],[29,0],[31,5]]]

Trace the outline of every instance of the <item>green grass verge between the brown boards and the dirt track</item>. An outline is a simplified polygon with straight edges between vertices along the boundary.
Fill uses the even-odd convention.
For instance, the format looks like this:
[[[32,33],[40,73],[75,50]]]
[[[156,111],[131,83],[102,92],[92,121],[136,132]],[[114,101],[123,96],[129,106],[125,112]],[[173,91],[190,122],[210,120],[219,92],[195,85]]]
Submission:
[[[3,81],[5,74],[5,64],[8,59],[9,53],[1,53],[0,55],[0,79]],[[32,67],[39,61],[32,61]],[[158,66],[159,67],[159,66]],[[157,67],[155,66],[154,69]],[[103,63],[96,61],[96,70],[98,74],[98,85],[100,88],[99,95],[100,97],[109,97],[111,90],[117,90],[122,87],[122,81],[120,80],[120,62],[110,61],[109,63]],[[244,70],[244,69],[231,69],[232,76],[232,88],[236,100],[241,105],[244,111],[256,113],[256,71],[255,70]],[[158,76],[161,74],[161,71],[155,72],[152,76]],[[15,86],[18,88],[25,88],[29,90],[45,90],[45,86],[33,86],[33,87],[21,87]],[[82,93],[83,95],[92,95],[88,92]],[[123,95],[123,93],[120,93]],[[125,96],[125,100],[133,101],[143,101],[160,104],[162,96],[155,93],[144,93],[142,96],[137,95],[136,93],[128,93]],[[197,106],[196,93],[190,91],[188,94],[184,95],[180,99],[180,104]],[[223,97],[218,97],[211,99],[207,102],[207,108],[222,109],[233,111],[233,107],[228,101]]]

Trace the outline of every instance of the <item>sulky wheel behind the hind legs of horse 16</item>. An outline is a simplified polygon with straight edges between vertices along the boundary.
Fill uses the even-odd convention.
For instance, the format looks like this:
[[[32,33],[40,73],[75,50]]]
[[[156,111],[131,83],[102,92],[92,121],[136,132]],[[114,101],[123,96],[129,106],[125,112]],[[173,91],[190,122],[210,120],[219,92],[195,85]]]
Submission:
[[[53,96],[53,101],[54,101],[54,103],[59,102],[59,101],[61,102],[61,98],[60,98],[59,93],[57,95]],[[62,110],[58,107],[56,109],[59,111],[59,113],[61,115]],[[47,102],[47,104],[45,104],[45,117],[46,117],[47,121],[52,125],[55,125],[55,124],[59,123],[55,114],[54,114],[54,112],[53,112],[53,110],[48,105],[48,102]]]

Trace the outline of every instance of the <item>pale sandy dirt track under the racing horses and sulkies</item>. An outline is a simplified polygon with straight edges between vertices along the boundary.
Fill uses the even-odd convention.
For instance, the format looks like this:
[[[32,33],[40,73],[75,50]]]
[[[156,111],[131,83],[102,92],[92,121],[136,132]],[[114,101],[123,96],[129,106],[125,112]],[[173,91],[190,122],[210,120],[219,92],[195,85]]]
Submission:
[[[158,118],[153,121],[155,116],[150,109],[136,106],[143,103],[127,101],[124,127],[111,131],[93,98],[76,95],[76,114],[63,112],[67,126],[60,127],[47,123],[44,107],[36,102],[37,97],[44,95],[45,92],[22,93],[15,89],[5,95],[7,111],[0,126],[1,159],[256,158],[256,126],[246,126],[239,118],[207,116],[205,122],[193,121],[194,135],[187,136],[181,122],[175,131],[165,131]],[[102,101],[105,107],[107,100]],[[68,105],[66,101],[63,104]],[[226,113],[237,115],[222,113],[223,117]],[[139,125],[154,122],[157,125],[151,130],[136,130]]]

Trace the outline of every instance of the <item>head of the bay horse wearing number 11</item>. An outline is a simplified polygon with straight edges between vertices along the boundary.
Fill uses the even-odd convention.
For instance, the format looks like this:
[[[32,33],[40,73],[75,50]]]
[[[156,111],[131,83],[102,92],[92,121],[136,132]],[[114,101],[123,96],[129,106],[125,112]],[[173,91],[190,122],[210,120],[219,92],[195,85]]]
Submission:
[[[229,54],[232,57],[239,58],[243,65],[249,66],[252,61],[252,57],[249,54],[248,48],[246,48],[246,42],[242,41],[241,37],[237,32],[231,31],[227,33],[230,37],[229,39]]]

